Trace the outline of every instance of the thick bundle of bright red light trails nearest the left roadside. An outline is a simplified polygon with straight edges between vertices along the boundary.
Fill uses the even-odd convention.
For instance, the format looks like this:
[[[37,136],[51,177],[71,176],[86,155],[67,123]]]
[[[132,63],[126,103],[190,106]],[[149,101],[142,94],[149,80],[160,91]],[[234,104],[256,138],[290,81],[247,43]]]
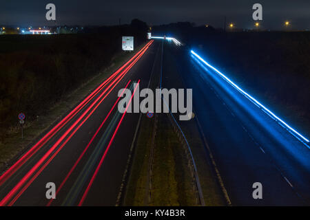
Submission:
[[[63,127],[63,125],[65,123],[68,122],[68,120],[70,120],[74,115],[76,115],[77,112],[79,112],[84,106],[85,104],[87,104],[91,98],[93,98],[94,96],[96,96],[96,94],[99,94],[99,92],[101,91],[101,89],[103,88],[104,85],[107,85],[107,83],[110,83],[110,81],[112,80],[112,78],[114,78],[114,76],[116,76],[116,74],[118,74],[119,72],[121,72],[121,70],[123,69],[123,67],[125,67],[128,63],[130,63],[134,58],[134,61],[132,63],[130,63],[130,65],[128,67],[125,68],[125,70],[123,70],[123,72],[121,72],[121,74],[119,74],[113,81],[112,83],[110,83],[110,85],[108,85],[108,87],[102,92],[102,94],[96,98],[96,100],[94,100],[94,102],[90,105],[90,107],[87,108],[87,110],[79,117],[78,120],[76,120],[76,122],[74,122],[74,124],[72,124],[72,126],[70,126],[70,128],[59,138],[59,140],[57,140],[57,142],[52,146],[52,148],[50,148],[50,150],[45,153],[45,155],[43,155],[43,157],[41,157],[41,159],[39,160],[39,162],[37,162],[37,164],[35,164],[30,171],[28,171],[28,173],[21,179],[21,181],[19,181],[19,183],[14,186],[14,188],[12,190],[10,190],[10,192],[8,193],[8,195],[6,195],[6,197],[4,197],[1,201],[0,201],[0,206],[5,206],[6,203],[8,203],[8,201],[10,201],[10,199],[12,199],[12,197],[17,193],[17,191],[23,186],[23,184],[26,183],[26,181],[34,174],[34,172],[39,168],[39,166],[41,166],[41,164],[43,164],[43,162],[45,161],[45,159],[48,158],[48,156],[52,153],[52,151],[54,151],[56,149],[56,147],[65,139],[65,137],[70,133],[70,131],[72,131],[72,129],[74,129],[74,126],[76,126],[76,124],[78,124],[83,117],[87,114],[88,111],[90,111],[90,109],[92,109],[92,107],[94,107],[94,104],[96,104],[96,102],[99,102],[100,98],[105,94],[105,92],[107,92],[108,89],[110,89],[110,87],[112,87],[112,85],[114,84],[114,86],[112,87],[112,89],[110,89],[110,91],[107,92],[107,94],[105,94],[105,96],[102,98],[102,100],[96,105],[96,107],[94,107],[94,109],[92,109],[92,111],[86,116],[86,118],[83,120],[83,122],[81,122],[81,124],[79,124],[79,126],[76,127],[76,129],[70,134],[70,136],[65,140],[65,142],[63,142],[63,144],[61,144],[61,146],[56,150],[56,152],[50,157],[50,159],[48,159],[47,162],[45,162],[45,164],[40,168],[40,170],[32,177],[32,179],[30,179],[30,181],[28,181],[27,184],[25,184],[25,186],[21,189],[21,191],[14,197],[14,199],[12,199],[12,201],[10,201],[9,206],[12,206],[14,204],[15,201],[17,201],[17,199],[20,197],[20,195],[28,188],[28,186],[30,186],[30,184],[32,183],[32,181],[34,181],[34,179],[37,178],[37,176],[43,171],[43,169],[48,166],[48,164],[52,161],[52,159],[57,155],[57,153],[59,153],[59,151],[61,151],[61,148],[63,148],[63,146],[65,146],[65,144],[70,140],[70,138],[74,135],[74,133],[76,133],[76,131],[79,130],[79,128],[83,125],[83,123],[90,117],[90,115],[92,115],[92,113],[99,107],[99,105],[101,104],[101,102],[103,102],[103,100],[107,97],[108,94],[110,94],[110,92],[114,89],[114,87],[116,87],[116,85],[118,85],[118,83],[122,80],[122,78],[125,76],[125,74],[127,74],[127,72],[131,69],[131,67],[138,61],[139,58],[141,58],[141,56],[143,56],[143,54],[145,53],[145,51],[147,50],[147,48],[149,47],[149,45],[152,44],[153,41],[150,41],[149,43],[147,43],[147,45],[145,45],[145,47],[143,47],[139,52],[137,52],[137,54],[135,56],[133,56],[130,61],[128,61],[127,63],[125,63],[125,65],[123,65],[120,69],[118,69],[118,71],[116,71],[114,74],[112,74],[112,76],[110,76],[107,80],[105,80],[105,82],[103,82],[99,87],[97,87],[97,89],[95,91],[92,92],[92,94],[90,94],[90,96],[87,96],[87,98],[85,98],[85,100],[83,100],[83,102],[81,102],[81,104],[79,104],[78,107],[76,107],[69,115],[67,115],[61,122],[59,122],[59,124],[57,124],[48,134],[54,135],[54,133],[56,133],[56,131],[59,131],[59,129],[61,129],[61,127]],[[55,131],[54,133],[52,133],[52,131]],[[50,139],[51,137],[48,137],[48,134],[45,135],[45,138]],[[21,157],[21,159],[19,159],[19,161],[17,162],[18,164],[16,166],[14,166],[14,169],[11,169],[10,172],[8,172],[7,175],[5,175],[6,173],[4,173],[3,175],[5,175],[4,177],[6,179],[8,179],[8,177],[10,177],[14,172],[16,172],[16,170],[22,165],[24,164],[32,155],[34,155],[34,153],[36,153],[39,148],[41,148],[41,146],[43,146],[43,144],[45,144],[45,142],[47,142],[48,140],[45,140],[44,137],[34,146],[30,149],[30,151],[28,151],[28,153],[26,153],[25,155],[27,156],[23,156]],[[39,144],[40,143],[40,144]],[[6,181],[6,179],[3,176],[1,176],[1,178],[3,178],[3,182]],[[1,180],[1,179],[0,179]]]

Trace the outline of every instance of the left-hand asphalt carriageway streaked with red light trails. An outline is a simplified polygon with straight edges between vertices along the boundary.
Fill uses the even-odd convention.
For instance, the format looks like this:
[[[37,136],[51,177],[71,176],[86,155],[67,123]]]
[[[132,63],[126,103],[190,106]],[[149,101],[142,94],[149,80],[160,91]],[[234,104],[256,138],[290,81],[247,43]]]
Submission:
[[[124,76],[123,72],[116,74],[59,131],[41,144],[37,152],[23,159],[22,165],[10,175],[1,176],[1,206],[116,205],[140,114],[126,113],[123,117],[114,104],[118,91],[126,85],[133,91],[133,83],[140,80],[140,89],[147,87],[158,45],[158,42],[152,43]],[[48,182],[53,182],[57,190],[61,186],[52,202],[45,197]]]

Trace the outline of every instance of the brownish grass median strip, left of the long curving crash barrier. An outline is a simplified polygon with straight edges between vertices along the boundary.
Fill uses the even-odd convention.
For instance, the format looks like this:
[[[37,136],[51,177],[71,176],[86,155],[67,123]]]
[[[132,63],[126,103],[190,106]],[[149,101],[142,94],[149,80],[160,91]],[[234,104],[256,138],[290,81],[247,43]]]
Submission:
[[[151,202],[145,204],[152,148],[149,140],[152,140],[153,123],[154,118],[143,116],[124,205],[195,206],[196,198],[186,155],[165,114],[158,116],[152,164]]]

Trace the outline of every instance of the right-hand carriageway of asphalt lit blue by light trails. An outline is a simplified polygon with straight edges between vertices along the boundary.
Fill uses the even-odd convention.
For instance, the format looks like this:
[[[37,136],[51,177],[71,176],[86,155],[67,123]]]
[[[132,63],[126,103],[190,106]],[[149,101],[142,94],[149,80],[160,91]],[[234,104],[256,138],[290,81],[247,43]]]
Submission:
[[[214,70],[198,62],[189,48],[167,46],[163,59],[163,76],[169,78],[168,65],[175,65],[185,87],[193,89],[194,113],[231,204],[309,206],[309,144],[300,142]],[[262,199],[252,196],[255,182],[262,184]]]

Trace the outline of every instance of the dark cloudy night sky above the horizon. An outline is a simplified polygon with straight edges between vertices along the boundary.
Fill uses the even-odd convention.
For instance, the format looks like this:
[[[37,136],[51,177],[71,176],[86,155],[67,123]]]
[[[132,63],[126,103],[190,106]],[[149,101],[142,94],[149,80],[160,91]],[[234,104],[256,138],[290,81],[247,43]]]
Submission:
[[[114,25],[121,18],[149,24],[191,21],[222,27],[224,17],[239,28],[252,28],[252,5],[262,4],[264,28],[280,29],[285,20],[294,28],[310,28],[310,0],[0,0],[0,24],[52,25],[45,20],[45,5],[56,5],[58,24]]]

